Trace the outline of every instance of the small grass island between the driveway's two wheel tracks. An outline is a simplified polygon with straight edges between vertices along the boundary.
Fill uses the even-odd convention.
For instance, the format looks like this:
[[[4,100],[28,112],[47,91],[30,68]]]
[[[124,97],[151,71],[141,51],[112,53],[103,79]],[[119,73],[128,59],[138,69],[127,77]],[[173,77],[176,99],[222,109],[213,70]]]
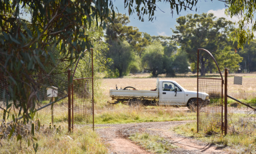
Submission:
[[[171,145],[163,137],[150,135],[149,133],[135,133],[129,139],[139,143],[139,145],[153,153],[171,153],[171,149],[175,148],[175,145]]]

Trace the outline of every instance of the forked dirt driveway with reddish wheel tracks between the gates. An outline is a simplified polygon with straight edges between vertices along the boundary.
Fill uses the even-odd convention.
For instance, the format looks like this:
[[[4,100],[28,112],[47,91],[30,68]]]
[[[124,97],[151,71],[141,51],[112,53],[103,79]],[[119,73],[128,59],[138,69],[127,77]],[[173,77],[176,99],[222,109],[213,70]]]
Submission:
[[[196,139],[191,139],[191,137],[183,137],[171,131],[171,127],[187,122],[191,121],[105,124],[95,126],[97,133],[109,145],[109,153],[151,153],[128,139],[129,135],[136,132],[146,132],[165,138],[166,141],[178,147],[173,149],[171,153],[227,153],[227,151],[223,151],[222,147],[203,143]]]

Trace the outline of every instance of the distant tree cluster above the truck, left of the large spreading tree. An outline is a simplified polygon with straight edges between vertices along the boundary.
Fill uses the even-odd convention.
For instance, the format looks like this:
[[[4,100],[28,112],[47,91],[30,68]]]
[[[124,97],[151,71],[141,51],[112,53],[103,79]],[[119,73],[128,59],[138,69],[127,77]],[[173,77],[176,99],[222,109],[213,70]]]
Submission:
[[[129,17],[118,13],[113,23],[107,24],[105,39],[109,50],[105,56],[109,77],[142,70],[148,70],[153,77],[189,72],[187,54],[171,37],[151,36],[137,27],[127,26],[128,23]]]

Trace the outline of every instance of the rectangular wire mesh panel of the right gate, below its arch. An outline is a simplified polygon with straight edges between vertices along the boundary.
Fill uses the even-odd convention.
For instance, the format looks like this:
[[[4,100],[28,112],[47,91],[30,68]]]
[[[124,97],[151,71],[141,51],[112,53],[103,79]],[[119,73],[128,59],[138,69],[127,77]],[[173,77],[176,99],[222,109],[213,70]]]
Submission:
[[[199,131],[222,133],[223,130],[223,85],[221,78],[199,78],[199,98],[209,94],[209,104],[199,100]]]

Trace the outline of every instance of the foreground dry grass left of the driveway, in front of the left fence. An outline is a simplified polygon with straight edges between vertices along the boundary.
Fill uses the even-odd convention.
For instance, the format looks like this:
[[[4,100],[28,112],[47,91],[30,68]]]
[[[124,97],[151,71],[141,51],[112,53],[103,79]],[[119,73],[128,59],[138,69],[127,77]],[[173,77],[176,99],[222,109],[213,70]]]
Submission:
[[[67,129],[63,129],[62,133],[45,133],[42,130],[36,132],[35,137],[37,141],[33,143],[39,145],[37,153],[107,153],[98,135],[84,127],[75,129],[73,133],[67,133]],[[16,137],[1,139],[1,144],[0,153],[35,153],[33,145],[28,147],[26,139],[23,139],[21,146]]]

